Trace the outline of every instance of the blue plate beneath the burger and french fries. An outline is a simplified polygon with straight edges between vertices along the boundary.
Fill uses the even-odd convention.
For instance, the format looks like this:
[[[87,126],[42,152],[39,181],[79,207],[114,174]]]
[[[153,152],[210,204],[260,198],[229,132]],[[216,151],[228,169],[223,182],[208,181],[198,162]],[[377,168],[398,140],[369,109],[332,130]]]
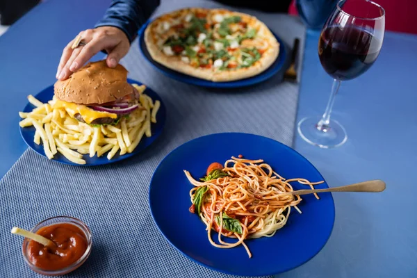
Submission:
[[[131,79],[127,79],[129,83],[136,83],[139,85],[142,85],[142,83],[138,81],[134,81]],[[166,119],[166,112],[165,112],[165,106],[163,104],[163,101],[161,97],[159,97],[156,92],[153,90],[146,88],[145,94],[147,94],[149,97],[151,97],[154,101],[159,100],[161,101],[161,108],[159,108],[158,113],[156,114],[156,124],[151,125],[152,130],[152,136],[147,138],[146,136],[143,136],[142,140],[140,140],[139,145],[136,147],[136,149],[129,153],[126,153],[122,156],[119,155],[119,152],[113,156],[111,160],[108,160],[106,157],[106,154],[104,154],[101,157],[93,156],[90,157],[88,154],[83,155],[83,159],[85,160],[86,164],[80,165],[76,163],[72,163],[71,161],[67,160],[65,156],[60,154],[59,152],[54,155],[53,161],[58,161],[60,163],[64,164],[70,164],[70,165],[77,165],[77,166],[93,166],[93,165],[102,165],[102,164],[108,164],[108,163],[114,163],[117,161],[122,161],[123,159],[129,158],[135,154],[138,154],[139,152],[142,152],[146,147],[152,144],[158,136],[161,135],[161,131],[163,129],[163,126],[165,125],[165,119]],[[54,97],[54,86],[51,85],[50,87],[42,90],[38,95],[35,95],[37,99],[42,101],[43,103],[49,101]],[[35,108],[32,104],[28,103],[23,112],[31,112]],[[20,128],[20,134],[22,135],[22,138],[26,144],[31,147],[35,152],[40,154],[41,156],[45,156],[43,145],[36,145],[35,142],[33,142],[33,136],[35,136],[35,128],[33,126],[30,127],[21,127]]]

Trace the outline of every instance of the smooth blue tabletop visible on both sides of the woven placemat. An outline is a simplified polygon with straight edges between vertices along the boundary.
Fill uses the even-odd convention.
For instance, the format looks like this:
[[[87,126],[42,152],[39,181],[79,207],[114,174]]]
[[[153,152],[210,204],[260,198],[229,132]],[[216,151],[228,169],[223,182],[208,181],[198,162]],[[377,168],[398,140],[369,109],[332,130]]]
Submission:
[[[17,126],[26,96],[54,83],[65,44],[93,26],[109,2],[50,0],[0,38],[0,177],[26,149]],[[310,31],[306,37],[298,120],[322,113],[329,97],[332,80],[318,60],[318,35]],[[325,150],[295,138],[295,149],[330,186],[383,179],[387,189],[377,195],[335,193],[329,242],[309,263],[279,277],[417,277],[417,186],[411,175],[417,165],[416,49],[417,36],[387,32],[375,65],[343,83],[334,118],[347,130],[345,145]]]

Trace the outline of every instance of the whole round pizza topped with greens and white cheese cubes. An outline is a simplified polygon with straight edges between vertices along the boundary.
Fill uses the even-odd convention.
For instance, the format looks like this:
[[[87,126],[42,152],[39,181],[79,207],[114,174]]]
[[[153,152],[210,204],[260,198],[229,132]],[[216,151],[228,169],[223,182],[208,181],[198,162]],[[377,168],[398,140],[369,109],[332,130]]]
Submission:
[[[279,43],[263,22],[224,9],[186,8],[147,26],[152,58],[177,72],[214,82],[234,81],[268,69]]]

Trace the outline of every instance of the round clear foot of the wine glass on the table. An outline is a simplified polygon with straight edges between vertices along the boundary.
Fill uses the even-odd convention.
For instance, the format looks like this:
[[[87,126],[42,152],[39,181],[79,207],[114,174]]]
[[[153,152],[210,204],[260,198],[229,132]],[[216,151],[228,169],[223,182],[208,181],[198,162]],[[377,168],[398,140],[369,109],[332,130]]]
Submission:
[[[323,149],[343,145],[347,140],[345,128],[335,120],[330,120],[327,125],[320,124],[321,118],[304,117],[297,125],[301,138]]]

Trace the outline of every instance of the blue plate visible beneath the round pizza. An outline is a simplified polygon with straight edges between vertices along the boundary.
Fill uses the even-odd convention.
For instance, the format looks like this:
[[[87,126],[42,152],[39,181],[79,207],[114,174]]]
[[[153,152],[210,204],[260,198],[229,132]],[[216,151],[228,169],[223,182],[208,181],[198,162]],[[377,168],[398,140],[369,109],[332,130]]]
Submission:
[[[193,85],[198,85],[202,87],[212,87],[212,88],[239,88],[239,87],[245,87],[248,85],[254,85],[256,83],[260,83],[262,81],[265,81],[266,79],[269,79],[270,77],[274,76],[281,70],[282,66],[284,65],[285,58],[286,58],[286,50],[284,47],[284,42],[275,34],[275,38],[279,42],[279,56],[275,62],[268,67],[267,70],[261,72],[260,74],[256,76],[252,76],[247,79],[240,79],[236,81],[229,81],[229,82],[213,82],[208,81],[204,79],[199,79],[197,77],[193,77],[187,74],[182,74],[181,72],[176,72],[174,70],[171,70],[160,63],[156,62],[154,59],[152,59],[151,54],[149,54],[149,51],[147,51],[146,44],[145,44],[145,29],[148,26],[149,21],[146,24],[143,24],[142,28],[140,28],[138,34],[139,34],[139,49],[142,52],[142,55],[145,56],[146,60],[153,65],[156,70],[162,72],[166,76],[169,76],[172,79],[175,79],[177,81],[181,81],[183,83],[189,83]]]

